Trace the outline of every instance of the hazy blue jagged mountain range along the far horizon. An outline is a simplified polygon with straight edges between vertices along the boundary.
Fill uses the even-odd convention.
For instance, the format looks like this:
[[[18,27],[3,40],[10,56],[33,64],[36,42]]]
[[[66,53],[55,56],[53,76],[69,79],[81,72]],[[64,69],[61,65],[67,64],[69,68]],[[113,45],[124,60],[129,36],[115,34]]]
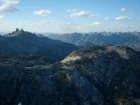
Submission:
[[[125,45],[140,50],[140,33],[136,32],[119,32],[119,33],[72,33],[49,35],[51,39],[61,40],[63,42],[75,44],[82,47],[93,45],[112,44],[115,46]]]

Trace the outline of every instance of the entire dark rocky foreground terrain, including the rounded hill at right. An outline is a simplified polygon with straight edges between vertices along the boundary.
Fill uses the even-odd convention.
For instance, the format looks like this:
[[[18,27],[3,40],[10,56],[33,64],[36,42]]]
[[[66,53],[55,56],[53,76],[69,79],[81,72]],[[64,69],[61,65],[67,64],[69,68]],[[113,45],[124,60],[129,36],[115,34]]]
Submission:
[[[0,104],[140,104],[138,52],[125,46],[94,46],[66,59],[1,56]]]

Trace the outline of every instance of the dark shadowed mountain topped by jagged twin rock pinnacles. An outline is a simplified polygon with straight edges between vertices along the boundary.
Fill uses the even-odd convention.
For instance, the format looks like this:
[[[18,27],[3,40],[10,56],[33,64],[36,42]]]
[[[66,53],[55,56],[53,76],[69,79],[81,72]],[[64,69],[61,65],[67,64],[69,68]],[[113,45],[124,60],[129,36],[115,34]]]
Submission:
[[[45,55],[63,59],[77,46],[36,35],[23,29],[0,36],[0,53],[10,55]]]

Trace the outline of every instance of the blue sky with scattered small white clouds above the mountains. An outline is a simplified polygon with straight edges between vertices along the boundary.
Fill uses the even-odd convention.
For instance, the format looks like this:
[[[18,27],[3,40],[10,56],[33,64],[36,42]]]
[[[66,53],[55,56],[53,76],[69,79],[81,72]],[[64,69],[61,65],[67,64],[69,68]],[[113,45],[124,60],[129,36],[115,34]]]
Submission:
[[[140,0],[0,0],[0,32],[140,31]]]

